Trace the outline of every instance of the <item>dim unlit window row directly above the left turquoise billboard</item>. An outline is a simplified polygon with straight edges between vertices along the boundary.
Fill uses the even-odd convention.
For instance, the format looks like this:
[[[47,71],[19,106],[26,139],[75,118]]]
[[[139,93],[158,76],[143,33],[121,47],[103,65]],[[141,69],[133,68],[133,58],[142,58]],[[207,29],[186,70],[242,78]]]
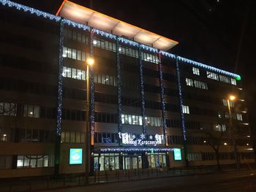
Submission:
[[[74,131],[62,131],[61,142],[85,143],[86,134]]]

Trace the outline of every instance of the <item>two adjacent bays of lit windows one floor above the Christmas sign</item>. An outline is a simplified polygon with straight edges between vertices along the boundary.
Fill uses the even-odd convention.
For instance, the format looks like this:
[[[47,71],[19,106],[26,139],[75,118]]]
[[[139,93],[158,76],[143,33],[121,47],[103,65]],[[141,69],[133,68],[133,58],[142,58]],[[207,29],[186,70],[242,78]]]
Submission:
[[[142,116],[140,115],[121,115],[121,122],[127,125],[142,126]],[[162,118],[145,117],[146,126],[162,126]]]

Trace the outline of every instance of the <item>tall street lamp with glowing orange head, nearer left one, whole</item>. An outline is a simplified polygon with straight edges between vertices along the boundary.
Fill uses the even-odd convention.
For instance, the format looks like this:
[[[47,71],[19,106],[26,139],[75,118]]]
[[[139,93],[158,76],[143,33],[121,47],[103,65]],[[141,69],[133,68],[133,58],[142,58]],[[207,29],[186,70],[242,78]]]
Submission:
[[[90,120],[89,120],[89,110],[90,110],[90,72],[89,66],[94,65],[94,58],[86,59],[86,184],[89,184],[89,172],[90,172]]]

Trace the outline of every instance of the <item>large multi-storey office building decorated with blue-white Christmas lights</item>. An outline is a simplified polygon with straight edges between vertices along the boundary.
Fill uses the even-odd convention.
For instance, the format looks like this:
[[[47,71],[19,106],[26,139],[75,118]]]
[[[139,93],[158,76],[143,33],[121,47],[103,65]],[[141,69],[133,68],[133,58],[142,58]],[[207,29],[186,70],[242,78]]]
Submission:
[[[240,162],[255,161],[238,74],[70,1],[55,16],[0,0],[0,15],[0,177],[85,172],[86,155],[91,171],[215,165],[209,130],[224,131],[220,164],[235,164],[230,93]]]

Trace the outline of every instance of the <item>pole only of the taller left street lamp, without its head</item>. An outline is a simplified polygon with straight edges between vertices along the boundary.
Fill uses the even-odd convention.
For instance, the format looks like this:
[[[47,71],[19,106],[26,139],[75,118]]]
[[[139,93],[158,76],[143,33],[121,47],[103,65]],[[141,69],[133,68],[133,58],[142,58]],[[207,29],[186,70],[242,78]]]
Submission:
[[[86,185],[89,184],[89,157],[90,157],[90,121],[89,121],[89,110],[90,110],[90,105],[89,105],[89,64],[87,64],[86,67]]]

